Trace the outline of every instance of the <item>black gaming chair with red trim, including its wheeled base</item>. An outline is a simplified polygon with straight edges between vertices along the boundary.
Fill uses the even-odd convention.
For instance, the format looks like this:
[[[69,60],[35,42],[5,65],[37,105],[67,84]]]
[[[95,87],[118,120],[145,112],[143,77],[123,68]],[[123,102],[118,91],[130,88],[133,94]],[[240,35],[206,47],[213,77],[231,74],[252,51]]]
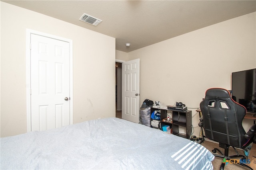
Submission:
[[[222,88],[210,88],[206,90],[205,98],[200,103],[203,119],[200,119],[199,126],[204,128],[205,137],[219,142],[219,147],[224,148],[224,154],[215,148],[222,155],[214,156],[225,158],[226,160],[238,159],[245,156],[239,155],[236,148],[245,149],[250,143],[255,141],[256,124],[254,124],[246,133],[242,127],[242,120],[246,114],[246,108],[236,103],[230,97],[230,92]],[[255,136],[255,137],[254,137]],[[256,143],[256,142],[254,142]],[[228,148],[233,147],[237,155],[229,156]],[[246,160],[245,160],[246,161]],[[239,165],[250,168],[246,164]],[[222,163],[220,170],[223,170],[225,163]]]

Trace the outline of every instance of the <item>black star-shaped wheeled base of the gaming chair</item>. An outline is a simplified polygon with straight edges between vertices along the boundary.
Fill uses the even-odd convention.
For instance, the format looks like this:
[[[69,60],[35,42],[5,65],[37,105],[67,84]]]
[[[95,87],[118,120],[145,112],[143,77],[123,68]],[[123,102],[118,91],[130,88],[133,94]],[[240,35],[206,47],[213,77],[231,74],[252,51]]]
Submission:
[[[228,146],[229,147],[229,146]],[[225,148],[225,153],[228,153],[228,147]],[[233,147],[234,148],[234,147]],[[226,150],[227,149],[227,150]],[[216,150],[218,150],[218,152],[220,152],[222,155],[219,155],[219,154],[213,154],[214,156],[216,157],[219,157],[219,158],[225,158],[226,160],[230,160],[231,162],[233,163],[236,163],[234,162],[234,158],[243,158],[246,160],[245,156],[244,155],[240,155],[238,154],[238,152],[236,151],[236,149],[234,148],[234,150],[236,151],[236,155],[232,155],[232,156],[227,156],[226,154],[223,154],[218,148],[214,148],[212,150],[212,152],[216,153]],[[236,163],[238,164],[238,163]],[[224,167],[226,165],[226,162],[222,162],[222,164],[220,165],[220,170],[224,170]],[[245,168],[248,168],[249,170],[253,170],[250,166],[246,165],[246,164],[243,164],[243,163],[239,163],[238,165],[241,165],[241,166],[244,166]]]

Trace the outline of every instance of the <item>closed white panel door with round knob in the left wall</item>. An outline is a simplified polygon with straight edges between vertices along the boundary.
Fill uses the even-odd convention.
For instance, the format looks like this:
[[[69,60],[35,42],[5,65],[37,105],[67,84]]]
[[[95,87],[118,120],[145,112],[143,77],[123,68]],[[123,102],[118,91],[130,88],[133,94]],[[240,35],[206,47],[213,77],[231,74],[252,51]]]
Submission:
[[[70,124],[69,43],[31,34],[31,130]]]

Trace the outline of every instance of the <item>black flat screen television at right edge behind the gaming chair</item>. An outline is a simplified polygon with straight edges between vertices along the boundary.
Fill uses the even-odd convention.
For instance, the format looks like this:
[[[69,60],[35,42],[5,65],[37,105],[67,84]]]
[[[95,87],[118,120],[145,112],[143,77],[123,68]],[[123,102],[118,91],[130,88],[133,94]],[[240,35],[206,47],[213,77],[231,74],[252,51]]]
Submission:
[[[232,98],[256,113],[256,68],[232,72]]]

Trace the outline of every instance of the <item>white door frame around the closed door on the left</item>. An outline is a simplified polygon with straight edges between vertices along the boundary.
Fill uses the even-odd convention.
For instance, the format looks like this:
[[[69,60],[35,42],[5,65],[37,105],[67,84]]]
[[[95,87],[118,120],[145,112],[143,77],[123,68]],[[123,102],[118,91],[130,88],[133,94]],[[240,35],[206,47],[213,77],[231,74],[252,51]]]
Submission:
[[[31,72],[30,72],[30,44],[31,44],[31,34],[40,35],[43,37],[48,37],[52,39],[57,39],[60,41],[65,41],[69,43],[69,124],[73,124],[73,41],[71,39],[66,39],[63,37],[58,37],[56,35],[51,35],[48,33],[43,33],[39,31],[34,31],[32,29],[26,29],[26,115],[27,115],[27,132],[31,131]]]

